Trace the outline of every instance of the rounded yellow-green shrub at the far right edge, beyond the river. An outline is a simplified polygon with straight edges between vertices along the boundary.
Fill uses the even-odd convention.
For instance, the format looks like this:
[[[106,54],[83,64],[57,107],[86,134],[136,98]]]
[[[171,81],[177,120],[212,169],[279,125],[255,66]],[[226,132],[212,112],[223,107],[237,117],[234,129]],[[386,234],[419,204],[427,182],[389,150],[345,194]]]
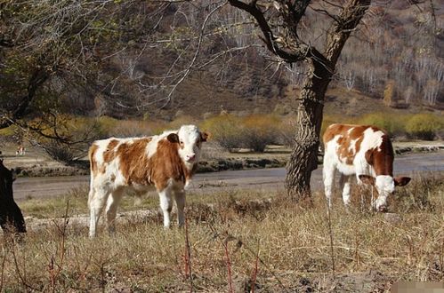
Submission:
[[[444,119],[432,114],[417,114],[408,120],[406,131],[416,139],[432,140],[444,126]]]

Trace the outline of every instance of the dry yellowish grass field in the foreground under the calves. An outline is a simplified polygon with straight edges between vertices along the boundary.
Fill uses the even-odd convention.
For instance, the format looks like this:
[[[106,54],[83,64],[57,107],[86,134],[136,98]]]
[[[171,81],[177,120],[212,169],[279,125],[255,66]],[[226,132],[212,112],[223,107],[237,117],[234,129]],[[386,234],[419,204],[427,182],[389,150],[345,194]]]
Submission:
[[[444,174],[416,176],[391,213],[323,194],[296,204],[284,191],[189,194],[187,227],[164,230],[157,212],[117,218],[117,234],[87,237],[75,219],[85,190],[27,201],[22,242],[1,246],[4,292],[388,292],[396,281],[444,281]],[[157,210],[157,199],[121,210]],[[65,215],[65,221],[53,218]],[[103,225],[101,225],[102,228]]]

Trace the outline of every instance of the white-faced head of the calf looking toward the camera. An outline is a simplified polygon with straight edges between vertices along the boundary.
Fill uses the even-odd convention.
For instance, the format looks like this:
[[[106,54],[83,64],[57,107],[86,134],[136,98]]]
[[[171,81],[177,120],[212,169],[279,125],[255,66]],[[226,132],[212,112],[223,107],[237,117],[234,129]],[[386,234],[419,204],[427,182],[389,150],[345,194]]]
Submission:
[[[193,164],[198,162],[200,148],[206,141],[208,134],[201,132],[195,125],[183,125],[177,133],[171,133],[167,139],[170,142],[178,143],[178,152],[183,162]]]

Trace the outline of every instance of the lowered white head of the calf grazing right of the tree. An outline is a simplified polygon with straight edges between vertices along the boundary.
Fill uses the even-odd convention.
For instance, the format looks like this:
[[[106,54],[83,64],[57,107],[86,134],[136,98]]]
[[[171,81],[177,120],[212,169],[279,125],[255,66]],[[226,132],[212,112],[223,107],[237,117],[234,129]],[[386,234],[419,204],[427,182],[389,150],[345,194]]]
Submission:
[[[378,175],[376,178],[368,175],[359,175],[362,183],[375,186],[376,200],[372,202],[377,211],[387,211],[387,198],[395,191],[395,186],[406,186],[410,182],[409,177],[393,178],[389,175]]]

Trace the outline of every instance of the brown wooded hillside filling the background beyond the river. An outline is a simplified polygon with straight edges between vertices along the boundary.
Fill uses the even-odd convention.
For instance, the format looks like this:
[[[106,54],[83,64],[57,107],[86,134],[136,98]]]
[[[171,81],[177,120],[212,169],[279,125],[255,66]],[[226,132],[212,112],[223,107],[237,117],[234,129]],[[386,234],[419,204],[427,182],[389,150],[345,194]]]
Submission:
[[[2,115],[25,105],[20,115],[31,119],[64,112],[172,120],[221,111],[286,115],[297,107],[305,64],[272,56],[254,21],[229,4],[59,4],[2,6]],[[73,14],[60,18],[63,7]],[[303,42],[324,51],[327,14],[340,10],[313,0],[298,29]],[[327,114],[442,110],[443,20],[442,1],[374,1],[343,48]]]

